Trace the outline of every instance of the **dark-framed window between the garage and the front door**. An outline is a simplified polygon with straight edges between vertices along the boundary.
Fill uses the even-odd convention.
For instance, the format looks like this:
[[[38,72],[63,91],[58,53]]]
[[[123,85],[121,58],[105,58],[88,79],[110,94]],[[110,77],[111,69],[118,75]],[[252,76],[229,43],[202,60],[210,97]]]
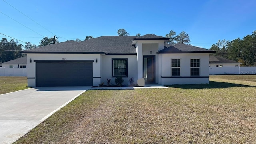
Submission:
[[[112,59],[112,77],[127,76],[127,58],[126,59]]]

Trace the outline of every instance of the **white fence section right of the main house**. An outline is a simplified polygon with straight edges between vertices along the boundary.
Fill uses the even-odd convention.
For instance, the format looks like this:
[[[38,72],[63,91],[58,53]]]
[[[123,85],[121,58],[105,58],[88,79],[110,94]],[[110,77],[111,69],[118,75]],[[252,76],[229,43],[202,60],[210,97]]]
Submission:
[[[209,74],[256,74],[256,67],[209,67]]]

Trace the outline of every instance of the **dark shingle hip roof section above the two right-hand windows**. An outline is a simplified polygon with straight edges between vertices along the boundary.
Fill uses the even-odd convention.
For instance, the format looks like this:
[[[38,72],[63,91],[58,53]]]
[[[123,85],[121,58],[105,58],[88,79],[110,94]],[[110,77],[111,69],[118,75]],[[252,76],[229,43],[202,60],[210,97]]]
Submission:
[[[160,50],[158,53],[159,54],[164,54],[164,53],[215,53],[215,51],[208,50],[205,48],[199,48],[196,46],[191,46],[188,44],[164,44],[164,49]]]

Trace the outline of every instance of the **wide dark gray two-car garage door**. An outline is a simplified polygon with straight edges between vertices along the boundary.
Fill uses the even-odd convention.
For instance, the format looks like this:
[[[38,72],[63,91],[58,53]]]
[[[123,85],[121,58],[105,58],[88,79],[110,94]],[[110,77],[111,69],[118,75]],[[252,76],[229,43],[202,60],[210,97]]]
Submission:
[[[36,86],[92,86],[92,62],[37,62]]]

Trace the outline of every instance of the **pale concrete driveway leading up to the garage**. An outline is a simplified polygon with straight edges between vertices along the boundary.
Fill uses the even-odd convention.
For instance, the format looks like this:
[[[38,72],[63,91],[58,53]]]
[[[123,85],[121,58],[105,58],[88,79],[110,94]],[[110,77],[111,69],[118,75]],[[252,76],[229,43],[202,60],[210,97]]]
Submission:
[[[11,144],[90,87],[36,87],[0,95],[0,144]]]

